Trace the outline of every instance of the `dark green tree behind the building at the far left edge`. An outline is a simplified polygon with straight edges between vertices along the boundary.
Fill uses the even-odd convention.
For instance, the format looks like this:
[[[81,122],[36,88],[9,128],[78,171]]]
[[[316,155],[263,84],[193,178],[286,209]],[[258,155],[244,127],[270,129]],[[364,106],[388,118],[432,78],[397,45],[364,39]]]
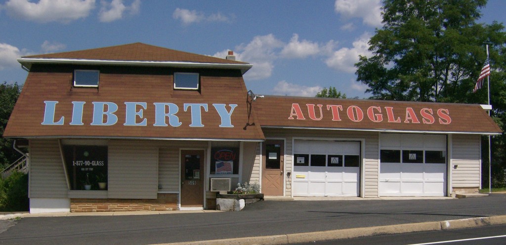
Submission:
[[[21,86],[14,84],[0,84],[0,135],[4,135],[7,121],[11,116],[14,105],[21,92]],[[12,148],[13,140],[0,138],[0,169],[12,164],[21,155]]]

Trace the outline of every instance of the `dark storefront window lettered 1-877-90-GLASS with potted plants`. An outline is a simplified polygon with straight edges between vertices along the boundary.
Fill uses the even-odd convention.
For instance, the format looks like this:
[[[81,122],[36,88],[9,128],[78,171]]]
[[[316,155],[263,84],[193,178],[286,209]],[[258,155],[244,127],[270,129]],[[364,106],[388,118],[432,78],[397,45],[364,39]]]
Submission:
[[[107,146],[63,145],[71,190],[107,190]]]

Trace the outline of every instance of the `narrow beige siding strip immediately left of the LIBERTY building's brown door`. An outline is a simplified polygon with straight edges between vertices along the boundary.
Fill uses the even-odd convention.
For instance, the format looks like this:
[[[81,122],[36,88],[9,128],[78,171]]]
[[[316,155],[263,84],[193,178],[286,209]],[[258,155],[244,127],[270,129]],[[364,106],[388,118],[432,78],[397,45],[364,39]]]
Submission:
[[[158,190],[179,192],[179,148],[158,150]]]

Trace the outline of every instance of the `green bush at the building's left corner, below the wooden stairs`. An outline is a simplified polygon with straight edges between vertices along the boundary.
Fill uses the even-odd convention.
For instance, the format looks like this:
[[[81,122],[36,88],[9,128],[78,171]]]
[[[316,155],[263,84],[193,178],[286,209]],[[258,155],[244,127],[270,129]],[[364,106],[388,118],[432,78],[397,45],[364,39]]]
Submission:
[[[28,211],[28,175],[15,172],[0,179],[0,211]]]

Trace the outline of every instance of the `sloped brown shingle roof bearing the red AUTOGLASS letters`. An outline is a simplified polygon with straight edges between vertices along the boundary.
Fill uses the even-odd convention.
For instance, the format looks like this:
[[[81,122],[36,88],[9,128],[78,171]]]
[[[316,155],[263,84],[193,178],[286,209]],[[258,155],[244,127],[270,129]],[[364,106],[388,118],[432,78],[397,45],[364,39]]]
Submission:
[[[313,108],[314,113],[310,112]],[[254,102],[254,111],[262,127],[502,133],[485,110],[476,104],[265,96]]]

